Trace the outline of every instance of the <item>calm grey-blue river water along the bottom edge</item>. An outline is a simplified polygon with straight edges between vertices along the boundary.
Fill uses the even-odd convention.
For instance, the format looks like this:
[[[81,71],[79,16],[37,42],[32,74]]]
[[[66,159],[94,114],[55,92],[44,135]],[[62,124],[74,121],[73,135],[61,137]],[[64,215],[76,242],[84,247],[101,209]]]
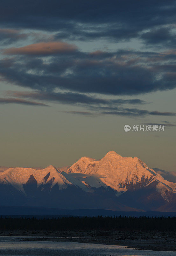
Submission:
[[[0,237],[0,256],[176,256],[176,252],[153,252],[116,245],[72,242],[23,241],[23,237]]]

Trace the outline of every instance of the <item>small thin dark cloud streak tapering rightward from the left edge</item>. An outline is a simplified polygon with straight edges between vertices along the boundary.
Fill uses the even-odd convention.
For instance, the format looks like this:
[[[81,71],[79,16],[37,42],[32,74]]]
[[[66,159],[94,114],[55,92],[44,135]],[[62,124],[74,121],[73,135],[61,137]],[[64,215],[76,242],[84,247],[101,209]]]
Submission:
[[[16,98],[0,98],[0,104],[22,104],[22,105],[31,105],[31,106],[45,106],[49,107],[48,105],[36,101],[29,101],[24,99],[16,99]]]

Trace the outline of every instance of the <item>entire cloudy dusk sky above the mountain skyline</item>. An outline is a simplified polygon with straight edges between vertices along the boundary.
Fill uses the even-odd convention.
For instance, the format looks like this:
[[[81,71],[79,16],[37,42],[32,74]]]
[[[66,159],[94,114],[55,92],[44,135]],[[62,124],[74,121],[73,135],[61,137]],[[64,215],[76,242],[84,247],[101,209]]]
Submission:
[[[114,150],[176,171],[175,20],[175,1],[1,0],[0,166]]]

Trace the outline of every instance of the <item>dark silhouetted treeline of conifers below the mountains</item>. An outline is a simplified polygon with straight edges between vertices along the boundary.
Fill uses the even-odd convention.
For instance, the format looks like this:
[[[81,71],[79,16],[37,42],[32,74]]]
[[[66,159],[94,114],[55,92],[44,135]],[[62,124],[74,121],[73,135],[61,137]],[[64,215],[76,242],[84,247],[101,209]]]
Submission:
[[[176,217],[62,217],[0,218],[4,230],[74,230],[74,231],[175,231]]]

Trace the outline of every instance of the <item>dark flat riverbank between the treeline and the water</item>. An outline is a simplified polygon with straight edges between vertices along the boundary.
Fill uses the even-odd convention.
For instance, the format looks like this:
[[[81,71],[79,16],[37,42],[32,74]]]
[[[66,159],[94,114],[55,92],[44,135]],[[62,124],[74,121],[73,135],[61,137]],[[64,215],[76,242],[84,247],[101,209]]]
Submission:
[[[121,245],[152,251],[176,252],[176,232],[75,232],[75,231],[3,231],[0,236],[23,236],[25,241],[79,242],[87,244]],[[24,236],[26,236],[24,238]]]

